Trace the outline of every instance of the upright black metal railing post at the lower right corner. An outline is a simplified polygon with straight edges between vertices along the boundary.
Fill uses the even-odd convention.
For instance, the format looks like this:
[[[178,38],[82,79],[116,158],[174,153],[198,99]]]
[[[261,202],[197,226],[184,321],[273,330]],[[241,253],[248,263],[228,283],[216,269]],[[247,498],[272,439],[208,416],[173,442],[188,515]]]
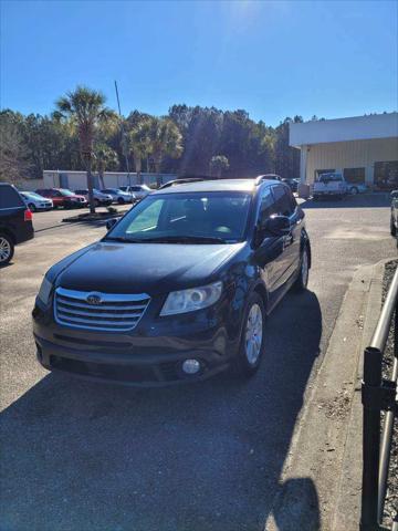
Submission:
[[[381,353],[379,348],[367,347],[364,358],[364,387],[380,386]],[[380,410],[364,403],[363,428],[363,492],[360,529],[370,531],[377,529],[378,469],[380,455]]]

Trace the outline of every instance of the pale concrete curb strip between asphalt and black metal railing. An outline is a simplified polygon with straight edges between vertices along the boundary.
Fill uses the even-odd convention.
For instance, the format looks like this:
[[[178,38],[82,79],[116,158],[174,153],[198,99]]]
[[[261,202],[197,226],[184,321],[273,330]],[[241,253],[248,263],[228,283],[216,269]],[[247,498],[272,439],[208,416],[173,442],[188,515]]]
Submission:
[[[292,437],[266,531],[358,529],[362,486],[358,367],[362,368],[363,344],[369,341],[366,334],[373,333],[373,323],[378,319],[375,304],[381,308],[379,289],[388,261],[359,268],[348,285]],[[312,492],[289,489],[290,480],[297,478],[306,478],[313,486]]]

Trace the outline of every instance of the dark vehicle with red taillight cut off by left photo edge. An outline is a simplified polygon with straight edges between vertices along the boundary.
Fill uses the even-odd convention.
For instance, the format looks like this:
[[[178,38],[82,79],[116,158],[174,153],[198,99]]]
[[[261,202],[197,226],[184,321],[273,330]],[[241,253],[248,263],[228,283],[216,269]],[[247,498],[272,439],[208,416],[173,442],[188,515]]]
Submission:
[[[17,188],[0,183],[0,266],[9,263],[15,246],[33,238],[32,218]]]

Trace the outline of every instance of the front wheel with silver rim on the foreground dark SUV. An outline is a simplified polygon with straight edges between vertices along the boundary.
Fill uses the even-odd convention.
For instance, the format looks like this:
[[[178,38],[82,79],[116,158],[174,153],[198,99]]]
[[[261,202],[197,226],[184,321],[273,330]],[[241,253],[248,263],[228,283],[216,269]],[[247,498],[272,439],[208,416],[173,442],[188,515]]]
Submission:
[[[264,354],[264,303],[259,293],[254,292],[244,311],[239,353],[231,366],[235,376],[250,377],[258,371]]]

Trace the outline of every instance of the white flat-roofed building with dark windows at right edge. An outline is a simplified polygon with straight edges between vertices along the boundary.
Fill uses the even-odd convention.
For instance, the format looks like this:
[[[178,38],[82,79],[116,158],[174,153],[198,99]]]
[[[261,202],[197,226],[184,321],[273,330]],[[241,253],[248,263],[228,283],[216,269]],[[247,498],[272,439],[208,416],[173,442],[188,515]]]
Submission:
[[[302,183],[339,171],[374,189],[398,188],[398,113],[292,123],[290,145],[301,150]]]

